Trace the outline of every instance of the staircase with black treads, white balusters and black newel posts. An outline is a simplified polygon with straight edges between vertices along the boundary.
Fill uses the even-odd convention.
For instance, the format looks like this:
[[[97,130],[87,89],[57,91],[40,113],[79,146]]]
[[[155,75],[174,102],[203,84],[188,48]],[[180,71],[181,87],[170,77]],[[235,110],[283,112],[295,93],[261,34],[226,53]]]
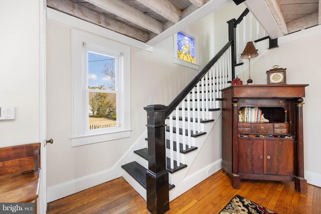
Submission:
[[[191,176],[188,174],[190,168],[197,165],[197,163],[194,164],[194,161],[199,153],[202,154],[200,152],[203,149],[202,147],[207,145],[206,143],[214,143],[213,133],[219,132],[219,135],[221,135],[221,124],[218,123],[219,125],[217,126],[219,128],[215,127],[217,121],[221,121],[220,91],[231,85],[232,80],[235,78],[235,72],[237,72],[237,74],[242,73],[239,67],[243,63],[239,63],[238,60],[240,59],[237,57],[240,52],[240,47],[239,45],[236,46],[236,43],[239,43],[240,41],[238,38],[240,34],[238,33],[238,30],[235,31],[235,29],[248,13],[249,11],[245,10],[240,18],[228,22],[230,28],[230,41],[168,107],[162,105],[154,106],[155,108],[164,109],[161,110],[163,113],[165,111],[164,120],[163,122],[160,120],[158,121],[158,118],[156,121],[157,126],[148,123],[147,129],[149,130],[151,126],[158,128],[163,126],[163,129],[155,129],[154,132],[162,130],[161,132],[164,131],[165,133],[153,133],[155,136],[158,136],[153,136],[153,139],[151,140],[152,143],[150,143],[148,142],[150,139],[147,139],[147,132],[145,132],[140,139],[136,141],[137,145],[133,146],[133,148],[136,148],[133,149],[134,157],[131,158],[131,161],[128,161],[129,163],[121,166],[122,175],[126,181],[132,185],[145,200],[147,200],[148,210],[151,209],[148,207],[148,196],[146,194],[146,177],[148,177],[146,174],[153,174],[154,177],[157,177],[158,174],[164,175],[162,170],[160,170],[160,172],[159,170],[156,170],[157,172],[155,170],[150,170],[151,168],[157,168],[157,166],[155,166],[155,161],[148,163],[148,159],[157,159],[155,156],[162,157],[162,154],[159,155],[159,153],[163,153],[163,150],[165,153],[164,160],[162,160],[162,158],[159,159],[158,157],[157,161],[164,161],[164,167],[166,167],[164,171],[169,172],[167,173],[168,177],[167,175],[164,176],[164,179],[166,180],[165,183],[167,183],[168,179],[169,199],[167,200],[169,201],[180,194],[183,194],[185,191],[221,168],[221,160],[219,160],[215,163],[218,166],[217,168],[214,165],[208,165],[206,168],[200,169],[199,171],[201,171],[201,173],[198,173],[197,175]],[[252,18],[250,18],[250,23],[251,22]],[[243,25],[243,27],[245,28],[245,25]],[[257,31],[256,34],[258,36],[259,32]],[[252,38],[252,35],[250,38]],[[246,42],[246,39],[243,40]],[[266,48],[264,47],[264,49]],[[238,66],[237,71],[235,71],[236,66]],[[145,109],[147,107],[145,107]],[[159,111],[159,109],[157,111]],[[147,111],[147,122],[149,116]],[[149,135],[149,131],[148,136],[152,136]],[[164,146],[164,148],[162,146],[159,147],[160,144]],[[147,145],[152,145],[153,147],[150,148],[151,154],[148,154]],[[160,165],[162,166],[162,163]],[[155,183],[157,183],[157,181],[155,181]],[[167,188],[167,186],[163,187]],[[161,198],[155,196],[157,193],[152,194],[154,194],[155,201]],[[151,203],[153,203],[153,201]],[[164,203],[168,202],[165,200]],[[151,212],[163,213],[166,211],[156,209],[153,209]]]

